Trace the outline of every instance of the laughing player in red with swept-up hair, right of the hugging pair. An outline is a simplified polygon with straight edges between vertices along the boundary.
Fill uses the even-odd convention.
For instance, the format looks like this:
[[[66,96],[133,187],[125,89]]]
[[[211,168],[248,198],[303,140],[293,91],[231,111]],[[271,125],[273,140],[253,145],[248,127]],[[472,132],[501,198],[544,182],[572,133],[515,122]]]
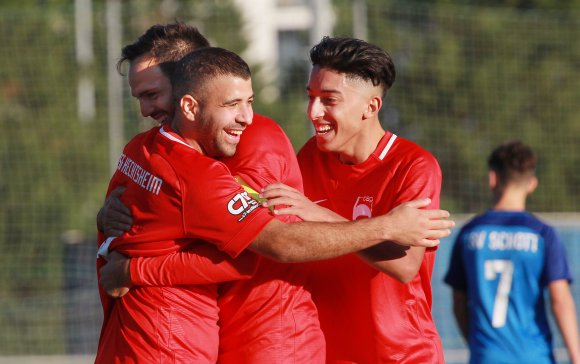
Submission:
[[[272,185],[263,192],[267,204],[290,206],[280,214],[325,221],[366,219],[423,197],[438,208],[436,159],[379,120],[395,80],[387,52],[358,39],[324,37],[310,59],[307,113],[316,135],[298,153],[308,199]],[[312,296],[328,363],[443,363],[431,316],[434,262],[434,248],[385,242],[313,263]]]

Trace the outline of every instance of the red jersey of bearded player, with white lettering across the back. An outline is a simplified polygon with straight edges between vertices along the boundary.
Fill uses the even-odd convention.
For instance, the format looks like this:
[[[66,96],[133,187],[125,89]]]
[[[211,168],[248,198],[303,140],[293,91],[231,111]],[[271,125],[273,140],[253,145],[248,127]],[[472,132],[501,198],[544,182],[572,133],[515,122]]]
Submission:
[[[168,126],[127,144],[109,192],[118,186],[127,187],[122,201],[134,224],[109,249],[129,256],[174,253],[203,240],[235,257],[273,219],[223,163],[191,148]],[[132,289],[105,305],[95,362],[213,363],[218,311],[215,284]]]

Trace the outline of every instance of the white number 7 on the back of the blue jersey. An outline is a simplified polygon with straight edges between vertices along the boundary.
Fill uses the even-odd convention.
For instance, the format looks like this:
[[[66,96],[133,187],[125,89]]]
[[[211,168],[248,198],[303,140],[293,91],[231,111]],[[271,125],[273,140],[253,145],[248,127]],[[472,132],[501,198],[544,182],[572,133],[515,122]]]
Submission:
[[[486,260],[484,270],[485,279],[487,280],[498,279],[497,276],[499,274],[491,324],[493,327],[502,327],[505,325],[507,316],[507,306],[514,275],[514,263],[510,260]]]

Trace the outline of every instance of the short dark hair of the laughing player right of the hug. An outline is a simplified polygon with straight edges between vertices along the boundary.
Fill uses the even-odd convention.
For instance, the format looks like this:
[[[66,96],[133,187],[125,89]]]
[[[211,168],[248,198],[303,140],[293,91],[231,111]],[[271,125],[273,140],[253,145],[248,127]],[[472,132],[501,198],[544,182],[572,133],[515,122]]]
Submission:
[[[395,82],[395,65],[382,48],[356,38],[324,37],[310,49],[313,66],[347,77],[361,78],[383,88],[383,96]]]

